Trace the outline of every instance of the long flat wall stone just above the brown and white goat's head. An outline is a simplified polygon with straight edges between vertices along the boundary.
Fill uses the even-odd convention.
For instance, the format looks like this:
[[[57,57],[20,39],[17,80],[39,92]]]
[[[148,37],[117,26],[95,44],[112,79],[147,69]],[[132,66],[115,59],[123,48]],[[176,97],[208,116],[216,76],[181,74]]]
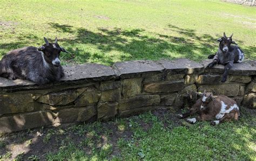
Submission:
[[[221,85],[201,85],[198,87],[199,92],[213,92],[215,95],[237,96],[240,92],[239,84],[221,84]]]

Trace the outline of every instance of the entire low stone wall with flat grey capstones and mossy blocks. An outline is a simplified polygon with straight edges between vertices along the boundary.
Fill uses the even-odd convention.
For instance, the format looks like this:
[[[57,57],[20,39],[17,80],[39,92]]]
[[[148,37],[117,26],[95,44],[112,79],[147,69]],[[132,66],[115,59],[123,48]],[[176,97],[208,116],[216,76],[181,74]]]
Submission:
[[[37,86],[0,78],[0,132],[62,123],[107,121],[159,107],[186,106],[187,92],[224,94],[255,108],[256,62],[235,64],[221,83],[223,66],[187,59],[65,66],[62,80]]]

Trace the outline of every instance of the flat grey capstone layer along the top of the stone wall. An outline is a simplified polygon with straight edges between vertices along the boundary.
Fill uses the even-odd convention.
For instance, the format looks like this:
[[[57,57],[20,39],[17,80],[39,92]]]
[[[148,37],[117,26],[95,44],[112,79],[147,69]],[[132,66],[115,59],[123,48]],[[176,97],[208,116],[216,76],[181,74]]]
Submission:
[[[140,76],[148,76],[161,72],[170,74],[200,74],[203,72],[223,73],[224,66],[217,65],[213,68],[205,68],[212,60],[194,62],[188,59],[170,60],[136,60],[116,62],[112,67],[100,64],[84,64],[75,66],[63,66],[65,77],[55,83],[38,86],[28,80],[9,80],[0,77],[0,91],[45,89],[56,85],[79,84],[84,82],[110,81],[115,79],[126,79]],[[234,64],[229,71],[233,75],[256,75],[256,61],[246,61]]]

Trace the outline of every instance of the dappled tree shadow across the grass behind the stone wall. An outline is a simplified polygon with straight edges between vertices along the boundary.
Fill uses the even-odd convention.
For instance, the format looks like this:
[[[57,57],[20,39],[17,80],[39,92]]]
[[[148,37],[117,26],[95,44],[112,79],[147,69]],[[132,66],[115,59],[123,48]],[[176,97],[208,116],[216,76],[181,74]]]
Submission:
[[[177,37],[159,33],[149,35],[143,29],[98,28],[97,32],[92,32],[84,27],[66,24],[49,23],[49,26],[56,30],[57,35],[72,34],[71,38],[59,39],[60,45],[70,52],[61,55],[65,64],[96,62],[112,65],[116,61],[177,58],[200,61],[214,54],[218,48],[216,41],[218,37],[214,38],[210,34],[198,36],[195,30],[183,29],[172,24],[167,26],[167,30],[178,33]],[[49,40],[53,41],[54,38]],[[21,35],[19,41],[0,44],[0,52],[28,46],[31,41],[43,42],[43,39],[32,34]],[[242,42],[238,41],[238,43]],[[42,44],[37,43],[37,45]],[[255,59],[254,46],[246,46],[242,49],[245,50],[247,58]]]

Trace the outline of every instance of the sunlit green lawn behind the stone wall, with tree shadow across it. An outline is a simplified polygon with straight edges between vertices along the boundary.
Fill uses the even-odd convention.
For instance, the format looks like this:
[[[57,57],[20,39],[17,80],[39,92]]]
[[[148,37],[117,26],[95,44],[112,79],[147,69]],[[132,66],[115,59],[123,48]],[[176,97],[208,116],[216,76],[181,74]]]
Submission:
[[[200,61],[225,31],[256,59],[256,9],[215,1],[1,1],[0,58],[40,46],[43,37],[70,54],[63,64],[139,59]]]

